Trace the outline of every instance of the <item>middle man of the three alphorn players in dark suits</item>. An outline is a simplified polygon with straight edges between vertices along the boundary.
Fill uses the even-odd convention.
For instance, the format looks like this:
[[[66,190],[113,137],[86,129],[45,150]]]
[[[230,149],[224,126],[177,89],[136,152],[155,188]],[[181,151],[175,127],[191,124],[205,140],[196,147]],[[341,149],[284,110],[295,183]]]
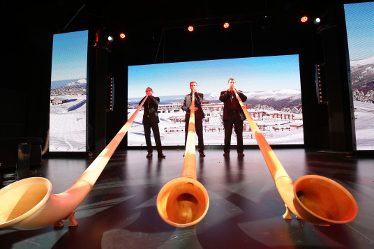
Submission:
[[[202,111],[202,98],[204,95],[202,93],[197,93],[197,83],[190,82],[191,92],[184,96],[184,103],[182,105],[182,110],[186,111],[186,135],[184,139],[184,145],[186,146],[187,134],[188,134],[188,121],[190,119],[190,109],[192,96],[195,98],[195,132],[198,138],[198,146],[200,156],[205,156],[204,153],[204,137],[202,135],[202,119],[204,119],[204,112]]]

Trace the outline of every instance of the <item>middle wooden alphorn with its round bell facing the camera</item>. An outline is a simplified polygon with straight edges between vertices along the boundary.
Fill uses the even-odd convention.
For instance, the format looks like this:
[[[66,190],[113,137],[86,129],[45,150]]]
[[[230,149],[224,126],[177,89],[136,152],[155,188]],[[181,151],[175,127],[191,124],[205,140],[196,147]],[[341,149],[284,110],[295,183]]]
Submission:
[[[160,217],[174,227],[196,225],[207,214],[209,196],[196,174],[195,98],[191,101],[182,176],[161,188],[156,206]]]

